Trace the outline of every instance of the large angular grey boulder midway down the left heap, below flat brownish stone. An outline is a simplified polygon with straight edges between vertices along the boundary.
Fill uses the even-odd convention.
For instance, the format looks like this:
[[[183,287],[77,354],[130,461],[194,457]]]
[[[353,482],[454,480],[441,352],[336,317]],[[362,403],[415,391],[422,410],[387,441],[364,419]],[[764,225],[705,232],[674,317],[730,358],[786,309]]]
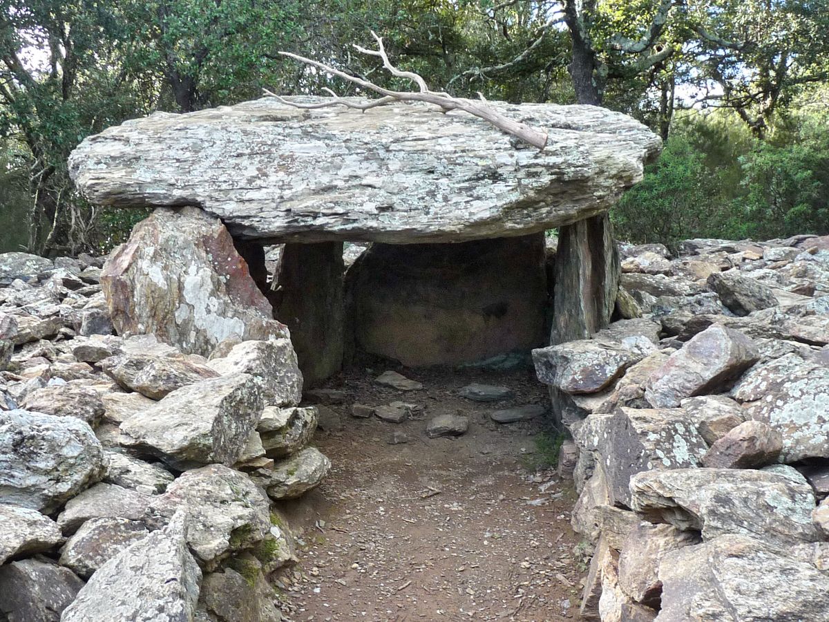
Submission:
[[[232,374],[182,386],[121,424],[123,445],[174,468],[235,464],[262,415],[259,383]]]

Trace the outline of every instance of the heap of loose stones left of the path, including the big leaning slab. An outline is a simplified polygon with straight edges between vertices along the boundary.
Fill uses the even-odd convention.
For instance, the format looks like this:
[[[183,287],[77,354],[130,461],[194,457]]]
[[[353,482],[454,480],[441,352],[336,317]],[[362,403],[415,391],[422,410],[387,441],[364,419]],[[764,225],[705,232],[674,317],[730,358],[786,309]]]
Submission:
[[[317,409],[224,228],[164,217],[106,265],[0,255],[0,620],[281,619]]]

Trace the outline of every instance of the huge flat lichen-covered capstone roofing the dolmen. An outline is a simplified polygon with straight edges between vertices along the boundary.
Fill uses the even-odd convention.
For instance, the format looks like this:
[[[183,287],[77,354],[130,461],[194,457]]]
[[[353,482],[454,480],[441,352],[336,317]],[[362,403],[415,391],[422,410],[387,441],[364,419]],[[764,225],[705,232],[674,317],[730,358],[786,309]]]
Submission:
[[[363,114],[263,99],[128,121],[87,138],[70,171],[92,202],[198,205],[235,236],[440,242],[528,234],[606,211],[660,147],[643,125],[606,109],[490,105],[549,132],[548,147],[514,148],[481,119],[425,104]]]

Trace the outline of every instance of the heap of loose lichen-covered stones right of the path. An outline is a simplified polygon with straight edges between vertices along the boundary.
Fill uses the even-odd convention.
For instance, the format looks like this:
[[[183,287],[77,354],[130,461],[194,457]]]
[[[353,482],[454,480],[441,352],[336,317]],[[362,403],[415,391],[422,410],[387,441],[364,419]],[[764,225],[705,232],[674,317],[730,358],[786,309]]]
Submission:
[[[533,352],[585,620],[829,620],[829,236],[621,245],[617,322]]]

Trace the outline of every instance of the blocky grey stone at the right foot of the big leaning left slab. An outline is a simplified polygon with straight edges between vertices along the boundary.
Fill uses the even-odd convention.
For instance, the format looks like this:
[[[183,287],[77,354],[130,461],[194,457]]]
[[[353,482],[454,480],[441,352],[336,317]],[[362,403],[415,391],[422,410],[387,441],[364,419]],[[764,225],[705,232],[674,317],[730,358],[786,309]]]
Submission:
[[[303,375],[288,338],[242,342],[210,367],[223,376],[239,372],[257,378],[267,406],[297,406],[303,399]]]

